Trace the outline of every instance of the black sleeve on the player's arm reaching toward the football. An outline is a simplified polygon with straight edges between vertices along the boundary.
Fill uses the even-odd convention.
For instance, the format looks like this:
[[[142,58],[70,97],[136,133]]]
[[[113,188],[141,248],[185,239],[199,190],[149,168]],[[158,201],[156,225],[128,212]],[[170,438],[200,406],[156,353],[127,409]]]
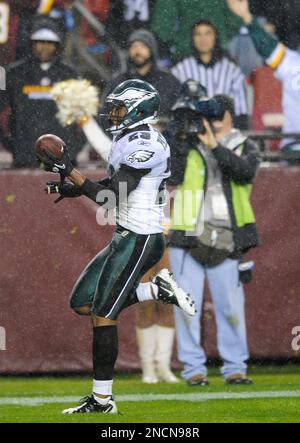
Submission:
[[[119,201],[121,187],[124,186],[126,190],[121,197],[125,199],[137,188],[141,178],[149,172],[150,169],[134,169],[126,165],[121,165],[120,169],[112,175],[111,179],[106,178],[100,182],[92,182],[86,179],[80,189],[83,195],[98,203],[98,205],[105,205],[106,209],[111,209],[115,207]],[[101,192],[103,192],[102,196]],[[115,196],[112,201],[109,200],[109,192],[112,192]]]

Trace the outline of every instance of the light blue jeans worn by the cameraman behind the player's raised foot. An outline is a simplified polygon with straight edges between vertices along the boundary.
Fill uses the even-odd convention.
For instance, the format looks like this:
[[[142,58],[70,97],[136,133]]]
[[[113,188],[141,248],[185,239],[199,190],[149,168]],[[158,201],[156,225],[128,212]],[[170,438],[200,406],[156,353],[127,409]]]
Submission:
[[[197,309],[189,317],[175,307],[175,326],[178,357],[183,363],[184,379],[196,374],[207,374],[206,356],[201,346],[200,316],[202,312],[204,279],[207,277],[215,309],[217,343],[224,378],[234,373],[245,373],[248,359],[244,291],[239,282],[238,261],[226,259],[214,267],[205,267],[181,248],[170,248],[170,261],[176,282],[191,294]]]

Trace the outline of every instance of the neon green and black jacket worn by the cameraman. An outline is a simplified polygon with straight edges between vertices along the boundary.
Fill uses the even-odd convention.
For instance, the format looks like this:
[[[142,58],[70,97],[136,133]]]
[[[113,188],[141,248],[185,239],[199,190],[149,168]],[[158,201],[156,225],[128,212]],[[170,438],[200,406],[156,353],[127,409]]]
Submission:
[[[228,203],[233,229],[235,252],[245,252],[257,246],[258,234],[255,216],[250,203],[252,181],[255,177],[259,156],[255,145],[246,140],[240,146],[241,156],[219,146],[213,153],[222,171],[222,185]],[[183,182],[177,188],[171,217],[171,244],[192,248],[196,246],[194,236],[186,236],[186,231],[194,231],[198,219],[201,199],[206,191],[205,160],[196,149],[189,151]],[[188,192],[186,192],[188,191]]]

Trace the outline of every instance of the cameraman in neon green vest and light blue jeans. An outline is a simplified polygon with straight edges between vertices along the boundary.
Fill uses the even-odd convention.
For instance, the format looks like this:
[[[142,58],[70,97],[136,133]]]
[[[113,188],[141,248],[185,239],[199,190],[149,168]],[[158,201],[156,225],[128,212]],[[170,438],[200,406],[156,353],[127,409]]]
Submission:
[[[217,104],[215,115],[208,112],[212,102]],[[248,347],[239,265],[243,254],[258,244],[249,198],[259,153],[252,141],[233,128],[234,104],[230,97],[217,95],[206,102],[202,98],[199,103],[201,114],[193,94],[179,103],[179,108],[175,105],[172,133],[179,142],[174,146],[177,154],[172,166],[172,184],[177,185],[177,193],[170,260],[176,281],[191,294],[197,309],[189,319],[175,309],[178,355],[184,366],[181,375],[189,385],[208,384],[200,330],[206,277],[223,359],[222,376],[226,383],[250,384],[246,376]],[[178,134],[174,133],[176,119]],[[197,200],[193,196],[199,193],[201,199]]]

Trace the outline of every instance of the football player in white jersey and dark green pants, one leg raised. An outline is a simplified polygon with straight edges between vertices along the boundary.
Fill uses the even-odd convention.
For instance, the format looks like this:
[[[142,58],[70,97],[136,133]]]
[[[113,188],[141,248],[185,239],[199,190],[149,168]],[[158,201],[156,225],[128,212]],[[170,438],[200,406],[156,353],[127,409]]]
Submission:
[[[71,294],[70,305],[93,322],[93,392],[67,414],[116,413],[112,397],[113,370],[118,355],[117,318],[137,302],[160,300],[195,314],[194,302],[167,269],[151,282],[139,284],[165,248],[163,208],[165,181],[170,175],[170,148],[151,124],[158,120],[160,98],[141,80],[127,80],[107,97],[108,131],[113,144],[109,176],[92,182],[76,170],[66,150],[61,159],[45,151],[39,159],[47,171],[70,182],[50,182],[48,192],[61,198],[84,195],[106,208],[116,206],[117,228],[111,243],[87,265]]]

